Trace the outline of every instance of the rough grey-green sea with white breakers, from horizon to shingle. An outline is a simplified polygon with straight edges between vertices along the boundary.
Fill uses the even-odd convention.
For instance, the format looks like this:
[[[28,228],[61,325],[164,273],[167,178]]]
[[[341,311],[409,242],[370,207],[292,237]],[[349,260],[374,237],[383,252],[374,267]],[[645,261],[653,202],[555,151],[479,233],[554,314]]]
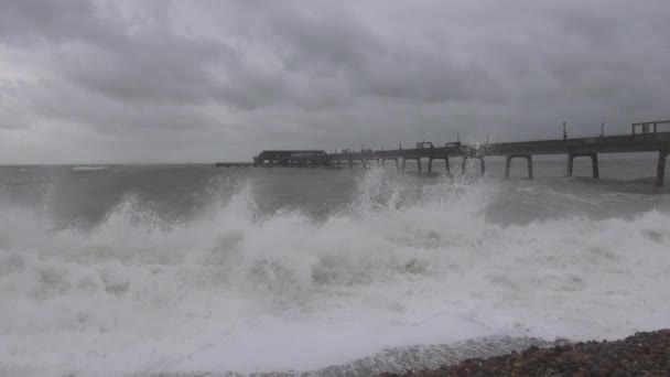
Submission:
[[[452,162],[1,166],[0,376],[368,376],[670,326],[655,157]]]

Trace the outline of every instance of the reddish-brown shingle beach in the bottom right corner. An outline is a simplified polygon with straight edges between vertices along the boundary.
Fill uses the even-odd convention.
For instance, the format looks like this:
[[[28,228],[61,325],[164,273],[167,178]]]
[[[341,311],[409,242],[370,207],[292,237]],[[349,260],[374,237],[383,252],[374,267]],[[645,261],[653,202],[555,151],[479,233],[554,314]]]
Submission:
[[[614,342],[533,346],[521,353],[472,358],[434,370],[382,376],[670,376],[670,330],[637,333]]]

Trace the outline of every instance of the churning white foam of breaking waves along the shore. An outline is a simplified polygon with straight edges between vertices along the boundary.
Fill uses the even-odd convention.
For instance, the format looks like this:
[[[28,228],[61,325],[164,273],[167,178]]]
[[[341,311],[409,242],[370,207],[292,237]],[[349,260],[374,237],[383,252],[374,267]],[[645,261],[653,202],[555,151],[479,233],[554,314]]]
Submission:
[[[132,202],[91,231],[3,209],[0,375],[313,370],[387,347],[668,327],[667,213],[501,227],[484,215],[494,183],[408,204],[379,180],[318,224],[257,219],[250,187],[180,225]]]

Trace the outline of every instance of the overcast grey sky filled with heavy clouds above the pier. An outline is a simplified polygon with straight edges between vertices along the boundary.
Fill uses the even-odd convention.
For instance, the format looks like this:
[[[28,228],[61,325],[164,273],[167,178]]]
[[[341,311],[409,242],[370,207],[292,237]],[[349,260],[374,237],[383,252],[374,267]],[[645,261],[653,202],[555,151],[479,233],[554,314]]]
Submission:
[[[670,118],[668,0],[0,0],[0,164],[250,161]]]

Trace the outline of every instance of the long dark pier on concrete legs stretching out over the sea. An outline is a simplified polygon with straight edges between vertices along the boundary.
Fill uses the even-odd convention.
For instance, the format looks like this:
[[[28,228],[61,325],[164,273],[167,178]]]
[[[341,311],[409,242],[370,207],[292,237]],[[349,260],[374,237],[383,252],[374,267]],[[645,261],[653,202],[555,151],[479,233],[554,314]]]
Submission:
[[[327,153],[323,150],[293,150],[293,151],[263,151],[253,158],[253,166],[284,166],[284,168],[354,168],[355,165],[368,168],[376,162],[383,166],[392,161],[398,171],[404,171],[407,161],[417,161],[418,171],[422,172],[425,160],[426,172],[433,172],[433,161],[444,160],[445,173],[451,174],[450,159],[461,159],[461,171],[465,172],[467,160],[479,161],[482,174],[486,172],[485,159],[488,157],[505,157],[505,177],[510,177],[511,163],[515,160],[526,160],[528,177],[533,177],[533,155],[564,154],[568,159],[566,175],[573,172],[574,159],[590,158],[592,175],[599,177],[598,154],[601,153],[631,153],[657,152],[656,185],[664,184],[666,160],[670,153],[670,120],[647,121],[633,123],[630,133],[604,136],[593,138],[568,138],[565,131],[563,139],[536,140],[520,142],[500,142],[484,144],[464,144],[460,141],[434,146],[422,141],[413,149],[403,149],[399,146],[392,150],[349,149]],[[667,127],[663,131],[660,128]]]

